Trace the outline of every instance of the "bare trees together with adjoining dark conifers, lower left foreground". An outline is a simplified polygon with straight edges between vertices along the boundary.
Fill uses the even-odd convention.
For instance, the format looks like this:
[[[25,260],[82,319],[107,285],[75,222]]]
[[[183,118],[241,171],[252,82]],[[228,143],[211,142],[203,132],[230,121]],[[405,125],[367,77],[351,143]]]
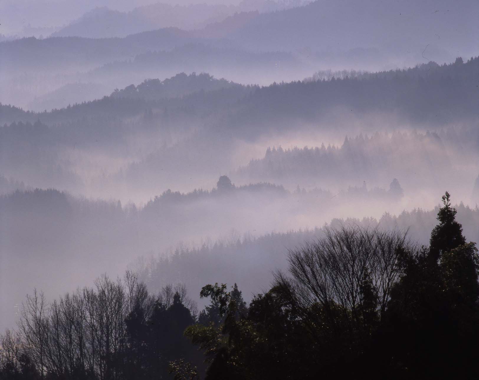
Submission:
[[[184,286],[153,295],[129,271],[52,303],[35,290],[1,336],[0,379],[165,379],[176,358],[201,366],[182,335],[196,318]]]

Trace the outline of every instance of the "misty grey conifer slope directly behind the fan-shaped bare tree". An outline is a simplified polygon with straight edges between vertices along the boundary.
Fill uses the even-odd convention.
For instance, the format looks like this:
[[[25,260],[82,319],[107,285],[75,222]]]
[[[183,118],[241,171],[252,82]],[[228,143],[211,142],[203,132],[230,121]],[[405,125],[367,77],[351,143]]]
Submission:
[[[336,197],[337,198],[337,197]],[[335,199],[335,198],[334,198]],[[472,241],[479,239],[479,211],[460,203],[456,205],[457,218],[464,226],[464,235]],[[384,213],[379,219],[372,217],[334,218],[330,228],[359,226],[361,228],[406,230],[408,236],[427,244],[439,207],[403,211],[399,215]],[[271,269],[287,269],[285,249],[294,249],[304,241],[322,239],[324,228],[272,232],[260,236],[232,233],[222,239],[207,240],[201,246],[178,245],[171,250],[161,250],[158,255],[144,255],[134,263],[138,277],[148,289],[158,291],[169,282],[181,278],[188,289],[199,289],[205,279],[228,282],[234,278],[241,283],[245,294],[255,293],[258,286],[272,280]]]

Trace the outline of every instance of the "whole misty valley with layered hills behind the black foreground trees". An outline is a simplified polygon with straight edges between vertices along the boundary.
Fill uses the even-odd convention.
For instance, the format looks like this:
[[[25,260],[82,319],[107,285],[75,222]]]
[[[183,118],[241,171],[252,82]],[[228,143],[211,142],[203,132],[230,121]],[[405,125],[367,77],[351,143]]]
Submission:
[[[130,302],[119,317],[125,334],[134,297],[149,308],[145,320],[159,304],[164,313],[181,304],[191,318],[175,327],[182,337],[194,323],[217,326],[215,300],[221,326],[228,312],[220,302],[244,302],[243,312],[251,302],[252,315],[283,283],[279,273],[297,273],[292,254],[331,231],[419,252],[433,244],[441,210],[454,207],[465,241],[479,241],[477,2],[97,3],[0,5],[8,19],[0,25],[2,365],[13,363],[2,357],[8,344],[23,347],[29,337],[32,294],[45,298],[46,326],[57,326],[52,318],[68,297],[88,303],[111,287]],[[452,203],[447,197],[443,207],[446,191]],[[235,288],[226,298],[220,287],[202,291],[214,283]],[[125,339],[118,345],[134,346]],[[90,378],[136,378],[107,356],[95,361],[95,344],[85,346],[91,362],[78,358]],[[168,363],[176,376],[191,370],[181,358],[201,378],[230,371],[211,364],[217,351],[205,365],[184,347],[144,373],[173,379]],[[76,354],[71,368],[56,368],[60,354],[44,362],[41,351],[29,352],[35,376],[83,379],[73,375]],[[15,360],[22,379],[35,378],[25,375],[25,357]],[[0,379],[10,379],[3,371]],[[252,371],[258,377],[230,378],[268,378]]]

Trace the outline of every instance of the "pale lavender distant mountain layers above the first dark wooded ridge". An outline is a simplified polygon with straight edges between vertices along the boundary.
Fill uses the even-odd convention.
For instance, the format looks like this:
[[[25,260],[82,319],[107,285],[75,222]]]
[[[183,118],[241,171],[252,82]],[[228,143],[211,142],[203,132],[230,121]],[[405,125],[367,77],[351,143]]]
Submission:
[[[101,96],[100,91],[105,95],[148,77],[163,79],[182,71],[208,72],[241,83],[266,85],[302,79],[318,68],[377,71],[431,60],[452,62],[459,55],[474,55],[473,36],[478,34],[471,20],[477,11],[474,2],[464,1],[461,6],[447,1],[373,3],[368,8],[351,1],[315,1],[302,6],[297,2],[243,2],[241,9],[262,11],[235,11],[223,21],[193,30],[173,23],[153,28],[144,20],[118,21],[124,25],[139,23],[144,30],[126,31],[121,38],[108,35],[113,39],[94,34],[110,24],[107,20],[111,12],[92,11],[91,17],[82,19],[92,25],[82,27],[83,21],[79,21],[70,26],[93,33],[88,34],[90,38],[71,32],[42,40],[30,37],[0,43],[0,83],[4,87],[0,101],[41,110],[58,107],[57,99],[49,103],[46,99],[66,85],[82,85],[77,89],[70,86],[70,91],[78,94],[71,96],[72,103],[80,101],[82,91],[83,100],[93,100]],[[161,17],[173,20],[170,11],[205,16],[195,7],[236,9],[158,4],[137,8],[128,15],[146,15],[158,22]],[[121,12],[113,14],[130,17]],[[183,16],[180,19],[186,20]],[[346,32],[351,28],[354,33]],[[378,30],[382,32],[376,33]],[[133,65],[128,64],[130,61]],[[349,62],[355,62],[355,66]],[[91,87],[90,92],[85,86]]]

